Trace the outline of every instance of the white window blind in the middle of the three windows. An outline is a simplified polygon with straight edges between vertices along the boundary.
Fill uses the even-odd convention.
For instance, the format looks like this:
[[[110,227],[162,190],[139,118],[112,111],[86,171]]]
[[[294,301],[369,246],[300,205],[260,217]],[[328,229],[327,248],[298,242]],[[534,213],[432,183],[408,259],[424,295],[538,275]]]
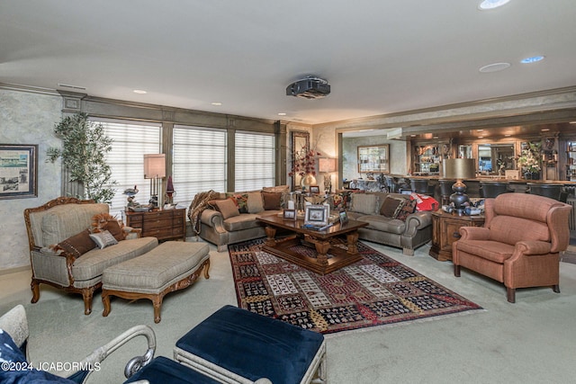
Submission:
[[[225,192],[226,131],[176,125],[172,135],[174,201],[189,207],[198,192]]]

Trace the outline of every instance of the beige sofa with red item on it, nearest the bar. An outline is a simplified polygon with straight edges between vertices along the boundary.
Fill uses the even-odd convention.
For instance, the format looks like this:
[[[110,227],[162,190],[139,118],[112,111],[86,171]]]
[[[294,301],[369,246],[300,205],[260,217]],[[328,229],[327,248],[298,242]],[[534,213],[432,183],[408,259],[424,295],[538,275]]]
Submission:
[[[347,206],[349,219],[365,221],[368,226],[359,228],[359,238],[386,246],[402,248],[404,255],[414,255],[414,249],[432,239],[432,213],[430,211],[403,212],[398,219],[394,212],[384,212],[386,198],[410,200],[410,195],[400,193],[352,193]],[[392,204],[392,208],[393,204]]]

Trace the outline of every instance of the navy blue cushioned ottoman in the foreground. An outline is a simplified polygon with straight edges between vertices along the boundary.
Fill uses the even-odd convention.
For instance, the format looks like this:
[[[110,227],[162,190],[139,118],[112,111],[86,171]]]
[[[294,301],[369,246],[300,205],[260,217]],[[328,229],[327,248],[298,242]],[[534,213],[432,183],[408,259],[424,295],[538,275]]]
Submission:
[[[326,381],[323,335],[232,306],[180,338],[174,358],[227,383]]]

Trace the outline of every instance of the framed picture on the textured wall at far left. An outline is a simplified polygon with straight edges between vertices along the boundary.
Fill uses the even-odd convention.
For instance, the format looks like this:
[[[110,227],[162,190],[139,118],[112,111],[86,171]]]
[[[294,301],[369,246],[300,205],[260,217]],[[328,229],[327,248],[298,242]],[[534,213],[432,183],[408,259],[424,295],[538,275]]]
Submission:
[[[38,145],[0,144],[0,199],[38,197]]]

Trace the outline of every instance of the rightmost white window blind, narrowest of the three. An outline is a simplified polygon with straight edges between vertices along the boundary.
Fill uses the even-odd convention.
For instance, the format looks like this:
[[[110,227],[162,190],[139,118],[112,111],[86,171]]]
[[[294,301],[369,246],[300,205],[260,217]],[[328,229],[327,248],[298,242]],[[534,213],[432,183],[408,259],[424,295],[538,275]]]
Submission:
[[[253,191],[275,185],[275,137],[236,132],[235,190]]]

